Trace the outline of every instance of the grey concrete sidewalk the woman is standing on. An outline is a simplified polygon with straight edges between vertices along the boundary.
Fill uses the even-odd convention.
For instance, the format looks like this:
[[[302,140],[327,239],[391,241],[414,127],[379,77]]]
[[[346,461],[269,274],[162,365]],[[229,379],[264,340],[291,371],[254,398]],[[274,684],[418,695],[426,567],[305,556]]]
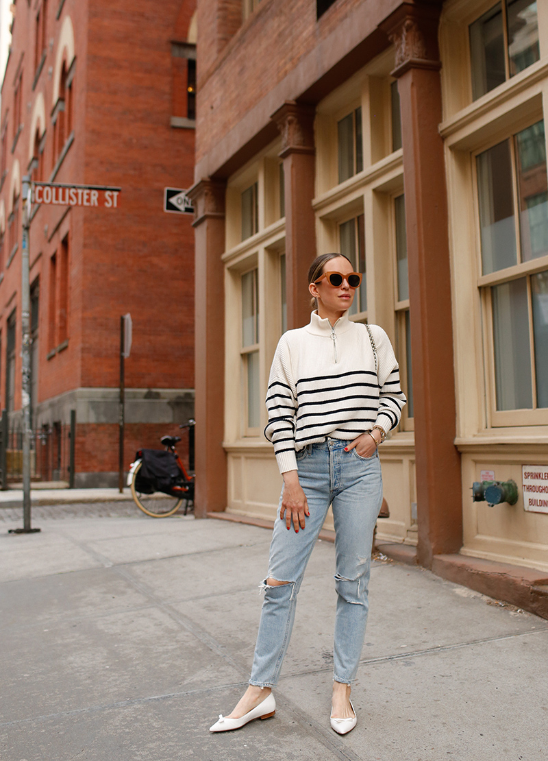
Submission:
[[[86,490],[89,492],[89,490]],[[211,735],[249,674],[270,532],[174,516],[0,523],[2,761],[537,761],[548,621],[372,566],[356,729],[329,727],[334,546],[299,594],[277,712]],[[5,514],[8,517],[8,514]]]

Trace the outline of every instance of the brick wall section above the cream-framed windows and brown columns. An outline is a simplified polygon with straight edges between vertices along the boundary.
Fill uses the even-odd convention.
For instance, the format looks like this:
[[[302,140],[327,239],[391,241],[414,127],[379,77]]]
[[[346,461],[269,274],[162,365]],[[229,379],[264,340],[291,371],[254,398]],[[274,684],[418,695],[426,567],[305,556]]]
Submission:
[[[375,32],[397,5],[396,0],[338,0],[316,20],[316,4],[310,0],[264,0],[214,56],[214,18],[221,3],[201,0],[197,164],[259,101],[271,102],[264,116],[268,120],[283,100],[299,97],[344,53]],[[350,22],[347,27],[345,21]],[[322,43],[330,35],[337,39],[324,51]],[[306,70],[297,72],[303,62]]]

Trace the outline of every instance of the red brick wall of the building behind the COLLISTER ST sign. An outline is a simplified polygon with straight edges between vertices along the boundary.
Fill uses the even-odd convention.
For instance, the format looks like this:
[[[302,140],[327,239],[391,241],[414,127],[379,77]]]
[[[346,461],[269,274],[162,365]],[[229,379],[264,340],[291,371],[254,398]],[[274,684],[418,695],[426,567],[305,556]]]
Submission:
[[[0,127],[7,119],[9,137],[8,173],[0,199],[7,210],[15,162],[21,167],[21,175],[27,171],[31,139],[33,142],[31,119],[42,97],[45,123],[41,130],[45,126],[46,135],[40,179],[121,186],[122,193],[116,210],[67,210],[43,205],[33,215],[31,282],[40,279],[38,402],[45,404],[78,387],[118,386],[119,319],[127,312],[133,319],[134,333],[131,357],[125,363],[126,385],[192,389],[192,217],[163,212],[163,189],[192,184],[194,130],[170,126],[172,116],[185,116],[180,108],[174,113],[174,102],[180,102],[183,92],[180,85],[179,91],[174,91],[171,43],[185,41],[195,0],[163,0],[161,12],[148,0],[65,0],[56,18],[59,8],[59,2],[49,0],[46,59],[38,72],[34,45],[40,2],[16,6],[11,56],[2,88]],[[74,141],[65,144],[65,158],[52,177],[56,161],[51,116],[55,66],[67,18],[74,30],[76,56],[72,81]],[[21,60],[22,131],[11,151],[14,82]],[[16,410],[21,406],[21,231],[17,234],[19,248],[13,260],[7,266],[5,245],[0,266],[4,275],[0,282],[0,404],[5,405],[5,322],[16,307]],[[51,282],[51,258],[59,256],[66,236],[68,341],[63,342],[59,331],[55,340],[50,340],[49,323],[52,294],[56,291],[59,296],[63,287]],[[59,281],[59,266],[56,278]],[[103,435],[103,428],[97,428],[97,440],[94,437],[93,425],[89,424],[85,436],[78,438],[84,460],[100,470],[103,466],[116,470],[117,434],[113,439]],[[96,460],[90,455],[94,444]]]

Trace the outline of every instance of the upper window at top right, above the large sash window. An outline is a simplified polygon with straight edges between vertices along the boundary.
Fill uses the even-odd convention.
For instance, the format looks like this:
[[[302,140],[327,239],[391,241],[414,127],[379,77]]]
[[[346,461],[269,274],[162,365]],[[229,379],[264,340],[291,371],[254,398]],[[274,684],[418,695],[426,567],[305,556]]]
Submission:
[[[470,24],[474,100],[539,59],[537,2],[503,0]]]

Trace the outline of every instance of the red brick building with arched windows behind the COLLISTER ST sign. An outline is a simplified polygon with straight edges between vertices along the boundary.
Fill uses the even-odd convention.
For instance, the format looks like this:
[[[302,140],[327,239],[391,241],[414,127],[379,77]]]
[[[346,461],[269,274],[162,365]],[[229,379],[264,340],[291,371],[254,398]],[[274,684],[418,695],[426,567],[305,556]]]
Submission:
[[[163,211],[192,183],[194,0],[17,0],[2,85],[0,401],[21,409],[21,179],[119,186],[116,209],[34,204],[30,213],[33,429],[75,485],[117,482],[119,324],[125,463],[194,407],[192,217]],[[38,457],[38,454],[36,454]],[[51,470],[51,469],[50,469]],[[50,474],[51,476],[51,474]]]

